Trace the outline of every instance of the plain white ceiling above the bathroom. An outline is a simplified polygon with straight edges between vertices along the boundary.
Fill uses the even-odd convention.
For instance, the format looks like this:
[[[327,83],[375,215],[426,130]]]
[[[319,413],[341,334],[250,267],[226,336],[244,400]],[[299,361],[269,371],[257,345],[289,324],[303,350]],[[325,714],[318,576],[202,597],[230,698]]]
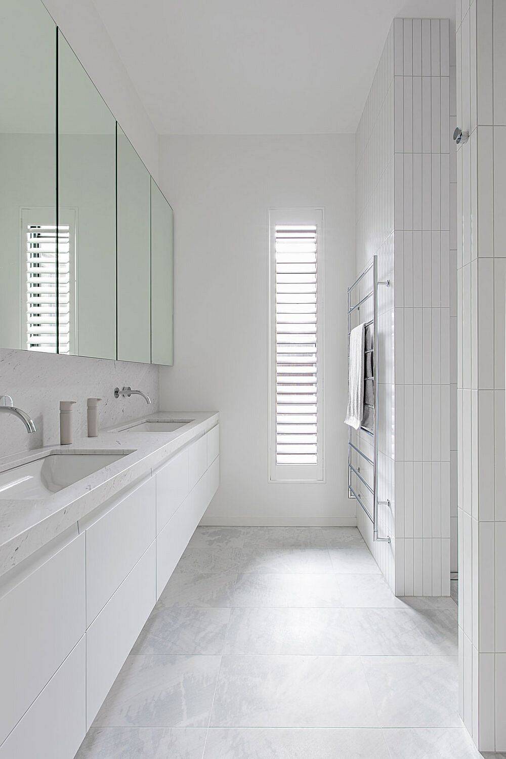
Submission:
[[[454,0],[94,0],[159,134],[354,132],[391,20]]]

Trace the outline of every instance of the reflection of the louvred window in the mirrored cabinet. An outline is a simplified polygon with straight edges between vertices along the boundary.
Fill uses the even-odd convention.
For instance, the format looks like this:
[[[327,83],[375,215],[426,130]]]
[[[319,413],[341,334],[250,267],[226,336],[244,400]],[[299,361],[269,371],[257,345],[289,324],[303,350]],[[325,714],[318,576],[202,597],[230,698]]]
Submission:
[[[58,329],[56,226],[34,224],[24,211],[24,345],[28,351],[70,354],[74,341],[74,254],[70,224],[59,225]]]

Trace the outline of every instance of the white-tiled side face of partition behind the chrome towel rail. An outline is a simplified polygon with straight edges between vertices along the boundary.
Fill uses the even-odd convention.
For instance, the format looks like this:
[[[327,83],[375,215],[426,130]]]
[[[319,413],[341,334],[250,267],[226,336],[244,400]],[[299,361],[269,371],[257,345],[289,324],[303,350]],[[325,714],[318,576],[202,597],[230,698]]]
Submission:
[[[378,493],[379,500],[391,502],[391,509],[379,506],[378,527],[381,536],[389,535],[391,543],[374,542],[372,522],[357,503],[358,527],[372,555],[378,562],[388,584],[394,588],[395,535],[393,513],[395,509],[394,479],[394,32],[388,32],[376,74],[356,134],[357,159],[357,269],[358,276],[378,256],[379,279],[391,280],[391,287],[378,291],[378,346],[375,374],[379,380],[378,404]],[[350,282],[355,279],[350,278]],[[351,304],[360,301],[372,290],[372,270],[351,291]],[[351,326],[372,319],[372,299],[354,311]],[[371,437],[366,433],[352,433],[352,442],[361,451],[373,456]],[[353,453],[352,463],[360,467],[362,476],[372,486],[372,466]],[[372,514],[372,496],[357,477],[352,487],[366,502]]]

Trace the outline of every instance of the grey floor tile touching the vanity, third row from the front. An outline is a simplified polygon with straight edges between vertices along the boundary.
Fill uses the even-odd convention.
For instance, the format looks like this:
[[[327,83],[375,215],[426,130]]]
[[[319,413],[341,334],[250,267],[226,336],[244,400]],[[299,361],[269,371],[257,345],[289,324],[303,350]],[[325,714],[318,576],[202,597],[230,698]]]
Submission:
[[[222,653],[230,609],[153,609],[131,653]]]

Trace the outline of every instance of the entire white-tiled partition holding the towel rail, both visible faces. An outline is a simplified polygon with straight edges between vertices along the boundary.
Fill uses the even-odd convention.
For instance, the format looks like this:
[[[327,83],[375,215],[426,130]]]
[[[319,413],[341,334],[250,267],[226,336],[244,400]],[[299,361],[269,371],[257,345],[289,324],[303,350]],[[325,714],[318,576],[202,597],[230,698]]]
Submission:
[[[378,493],[391,502],[379,506],[379,533],[391,544],[372,543],[360,507],[357,518],[398,595],[450,591],[452,499],[457,515],[453,39],[448,19],[395,19],[357,130],[357,274],[377,254],[379,279],[391,280],[378,291],[376,367]],[[371,288],[367,276],[352,303]],[[352,326],[372,317],[366,305]],[[363,433],[360,447],[370,451]]]

